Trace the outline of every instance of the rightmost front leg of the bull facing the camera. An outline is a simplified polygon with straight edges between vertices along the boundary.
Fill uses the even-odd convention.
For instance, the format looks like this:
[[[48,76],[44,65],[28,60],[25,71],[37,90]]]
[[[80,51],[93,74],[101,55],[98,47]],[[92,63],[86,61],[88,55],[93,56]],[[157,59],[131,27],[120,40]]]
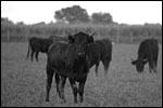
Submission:
[[[80,103],[84,102],[84,87],[85,87],[86,80],[87,80],[87,77],[82,82],[79,82],[78,93],[79,93],[79,102]]]

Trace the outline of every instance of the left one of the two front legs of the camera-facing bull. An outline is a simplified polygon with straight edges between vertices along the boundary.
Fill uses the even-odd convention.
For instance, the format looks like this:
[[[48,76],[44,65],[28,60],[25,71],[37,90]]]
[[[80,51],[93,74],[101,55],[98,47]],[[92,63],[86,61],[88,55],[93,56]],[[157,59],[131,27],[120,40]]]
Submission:
[[[71,78],[70,78],[70,83],[71,83],[71,86],[72,86],[72,90],[73,90],[73,94],[74,94],[74,103],[77,104],[77,85],[75,83],[75,80],[73,80]]]

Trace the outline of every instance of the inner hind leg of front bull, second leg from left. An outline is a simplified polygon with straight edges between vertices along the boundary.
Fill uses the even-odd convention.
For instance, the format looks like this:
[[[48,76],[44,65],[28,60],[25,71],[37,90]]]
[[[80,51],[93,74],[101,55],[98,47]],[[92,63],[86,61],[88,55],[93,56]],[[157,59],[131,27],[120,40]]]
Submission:
[[[61,76],[61,80],[59,82],[59,94],[61,99],[65,103],[65,97],[64,97],[64,85],[65,85],[66,77]]]

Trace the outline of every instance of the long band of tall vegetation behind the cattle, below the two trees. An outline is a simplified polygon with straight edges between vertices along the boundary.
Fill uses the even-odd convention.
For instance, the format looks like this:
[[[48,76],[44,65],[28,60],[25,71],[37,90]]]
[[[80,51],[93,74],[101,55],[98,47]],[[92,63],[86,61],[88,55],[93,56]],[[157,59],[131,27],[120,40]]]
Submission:
[[[49,38],[51,35],[66,37],[68,33],[84,31],[95,38],[110,38],[116,42],[135,42],[145,38],[156,38],[162,42],[162,25],[97,25],[97,24],[35,24],[25,25],[1,18],[1,41],[27,41],[30,37]]]

